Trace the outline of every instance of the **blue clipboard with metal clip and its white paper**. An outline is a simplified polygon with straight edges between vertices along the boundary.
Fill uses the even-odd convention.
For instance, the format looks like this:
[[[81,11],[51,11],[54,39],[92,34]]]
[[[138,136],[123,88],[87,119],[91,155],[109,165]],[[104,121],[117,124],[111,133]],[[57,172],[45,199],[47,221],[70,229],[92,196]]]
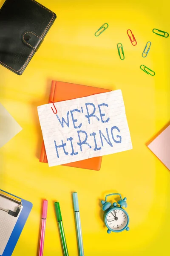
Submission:
[[[11,256],[32,203],[0,189],[0,256]]]

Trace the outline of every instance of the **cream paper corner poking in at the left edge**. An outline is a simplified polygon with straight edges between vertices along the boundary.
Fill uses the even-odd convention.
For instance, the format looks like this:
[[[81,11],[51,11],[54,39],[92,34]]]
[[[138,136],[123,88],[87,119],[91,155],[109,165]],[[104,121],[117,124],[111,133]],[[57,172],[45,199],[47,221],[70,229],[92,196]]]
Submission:
[[[10,113],[0,104],[0,148],[22,130]]]

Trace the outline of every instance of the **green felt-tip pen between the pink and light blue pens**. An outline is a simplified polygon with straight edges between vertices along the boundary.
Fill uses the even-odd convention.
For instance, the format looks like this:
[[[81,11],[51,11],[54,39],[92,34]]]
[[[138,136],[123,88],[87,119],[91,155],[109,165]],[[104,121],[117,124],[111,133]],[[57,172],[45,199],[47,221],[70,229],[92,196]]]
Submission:
[[[63,253],[64,253],[64,256],[68,256],[68,249],[67,249],[67,243],[65,240],[65,233],[64,233],[64,227],[62,224],[62,215],[61,215],[61,211],[60,211],[60,207],[59,207],[59,202],[55,202],[54,205],[55,205],[57,221],[58,221],[58,225],[59,225],[59,233],[60,233],[60,237],[61,237],[61,241],[62,241]]]

